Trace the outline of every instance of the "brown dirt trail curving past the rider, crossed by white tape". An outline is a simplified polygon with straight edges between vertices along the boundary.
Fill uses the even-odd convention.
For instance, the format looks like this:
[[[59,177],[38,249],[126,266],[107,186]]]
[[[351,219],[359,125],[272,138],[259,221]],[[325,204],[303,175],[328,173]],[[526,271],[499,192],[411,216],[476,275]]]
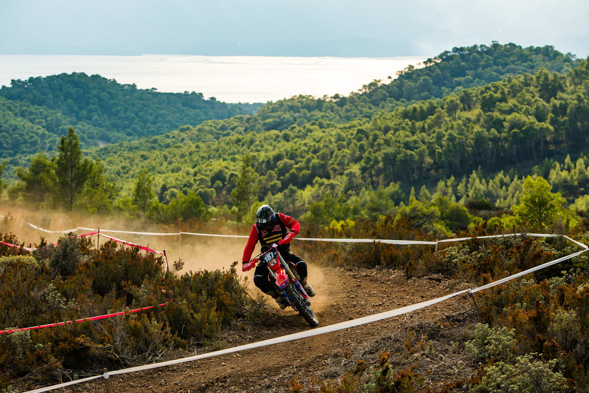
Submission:
[[[330,267],[323,268],[322,273],[324,280],[316,289],[318,294],[327,295],[327,298],[324,297],[325,302],[317,308],[320,326],[388,311],[467,288],[465,284],[441,276],[408,280],[401,272],[389,269],[346,270]],[[293,379],[305,384],[314,377],[340,377],[342,372],[355,365],[355,362],[346,361],[349,356],[342,357],[345,351],[346,354],[356,355],[374,354],[385,349],[392,351],[390,345],[395,341],[395,333],[402,333],[408,326],[419,323],[439,325],[446,321],[446,315],[470,307],[469,300],[459,296],[417,312],[339,332],[117,375],[110,378],[111,390],[113,393],[290,391]],[[276,311],[270,313],[269,321],[263,326],[225,332],[224,341],[227,347],[236,346],[305,329],[309,327],[293,311]],[[176,358],[190,355],[193,353],[184,352],[177,354]],[[104,392],[104,380],[77,385],[71,391]]]

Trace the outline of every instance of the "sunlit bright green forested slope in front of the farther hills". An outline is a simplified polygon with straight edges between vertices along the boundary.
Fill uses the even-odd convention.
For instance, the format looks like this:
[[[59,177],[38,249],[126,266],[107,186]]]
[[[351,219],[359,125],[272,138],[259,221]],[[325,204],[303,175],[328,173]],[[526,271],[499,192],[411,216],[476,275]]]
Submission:
[[[207,203],[230,202],[236,164],[250,153],[261,176],[260,200],[299,193],[306,204],[327,192],[368,198],[381,187],[399,203],[399,187],[408,191],[480,168],[530,172],[548,165],[542,169],[548,173],[555,164],[545,158],[583,152],[589,141],[589,65],[580,61],[564,75],[541,69],[507,77],[344,124],[320,120],[249,131],[257,116],[180,127],[92,156],[125,184],[146,170],[163,201],[198,191]]]

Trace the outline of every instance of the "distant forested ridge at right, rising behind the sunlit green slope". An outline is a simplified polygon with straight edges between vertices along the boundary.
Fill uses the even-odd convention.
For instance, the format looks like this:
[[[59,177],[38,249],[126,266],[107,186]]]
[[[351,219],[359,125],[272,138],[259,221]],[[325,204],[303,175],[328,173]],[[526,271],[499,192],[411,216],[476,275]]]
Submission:
[[[312,120],[345,123],[372,117],[412,101],[441,98],[453,92],[482,86],[506,75],[532,73],[546,68],[567,72],[578,61],[551,46],[522,48],[515,44],[472,45],[453,48],[426,60],[423,67],[410,65],[395,79],[372,81],[346,97],[292,97],[265,105],[250,122],[250,130],[284,130]]]

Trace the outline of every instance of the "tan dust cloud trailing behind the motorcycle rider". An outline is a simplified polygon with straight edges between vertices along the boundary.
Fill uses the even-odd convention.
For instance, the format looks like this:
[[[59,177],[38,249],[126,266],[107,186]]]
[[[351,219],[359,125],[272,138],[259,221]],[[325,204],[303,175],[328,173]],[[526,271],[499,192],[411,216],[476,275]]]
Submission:
[[[68,230],[76,227],[101,228],[111,230],[130,230],[135,232],[161,232],[174,233],[178,229],[169,227],[162,229],[161,226],[151,223],[126,222],[121,217],[112,216],[85,216],[72,212],[53,212],[39,209],[27,209],[27,207],[0,205],[0,214],[11,219],[2,219],[0,217],[0,233],[14,233],[19,242],[24,242],[25,246],[35,246],[45,238],[48,242],[55,243],[61,233],[46,233],[34,229],[25,222],[34,224],[47,230]],[[85,232],[94,232],[93,230],[78,230],[77,235]],[[105,235],[116,237],[126,242],[137,243],[142,246],[148,246],[151,249],[164,251],[168,259],[170,269],[174,261],[182,260],[183,272],[197,270],[214,270],[230,269],[231,263],[238,262],[237,275],[240,278],[247,278],[247,288],[252,294],[261,293],[253,283],[253,269],[249,272],[241,271],[241,257],[246,245],[246,238],[232,237],[203,237],[194,235],[173,235],[173,236],[153,236],[153,235],[135,235],[131,233],[111,233],[104,232]],[[249,235],[248,233],[235,233],[234,235]],[[108,239],[97,235],[92,236],[92,242],[99,244],[106,242]],[[291,250],[297,253],[296,241],[291,244]],[[256,246],[253,256],[260,252],[260,245]],[[325,283],[323,270],[309,260],[304,253],[299,254],[309,267],[309,282],[316,289],[317,295],[312,298],[313,311],[317,312],[325,308],[329,303],[329,289]],[[273,301],[268,302],[275,305]]]

